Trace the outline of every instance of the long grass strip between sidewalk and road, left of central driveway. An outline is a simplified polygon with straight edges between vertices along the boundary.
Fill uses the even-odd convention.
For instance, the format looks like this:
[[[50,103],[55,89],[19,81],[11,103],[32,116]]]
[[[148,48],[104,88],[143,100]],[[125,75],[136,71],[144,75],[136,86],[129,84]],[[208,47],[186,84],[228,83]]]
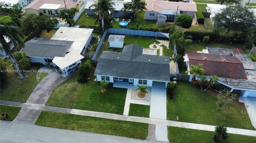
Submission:
[[[146,139],[148,124],[42,111],[36,123],[52,128]]]

